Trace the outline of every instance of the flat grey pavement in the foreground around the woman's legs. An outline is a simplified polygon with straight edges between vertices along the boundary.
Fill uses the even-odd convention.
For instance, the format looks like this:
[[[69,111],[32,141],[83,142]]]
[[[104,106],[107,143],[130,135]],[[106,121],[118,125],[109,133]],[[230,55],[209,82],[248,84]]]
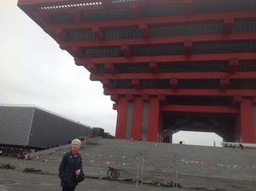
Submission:
[[[54,175],[30,174],[13,170],[0,170],[0,190],[1,191],[57,191],[59,178]],[[162,190],[153,187],[138,187],[136,184],[116,183],[100,179],[86,179],[75,189],[100,191],[100,190]]]

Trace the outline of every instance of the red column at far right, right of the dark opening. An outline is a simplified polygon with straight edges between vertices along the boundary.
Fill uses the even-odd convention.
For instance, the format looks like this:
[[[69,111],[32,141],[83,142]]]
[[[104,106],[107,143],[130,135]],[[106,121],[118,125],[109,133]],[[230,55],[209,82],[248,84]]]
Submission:
[[[240,141],[254,144],[253,101],[243,99],[240,111]]]

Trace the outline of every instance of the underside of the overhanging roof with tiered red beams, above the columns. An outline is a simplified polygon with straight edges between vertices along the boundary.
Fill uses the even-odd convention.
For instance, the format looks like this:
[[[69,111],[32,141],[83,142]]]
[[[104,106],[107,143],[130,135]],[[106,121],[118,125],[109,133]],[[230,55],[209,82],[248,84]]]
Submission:
[[[254,0],[19,0],[18,6],[103,83],[106,95],[157,90],[169,104],[203,97],[185,101],[192,105],[207,105],[213,95],[221,106],[236,102],[235,95],[256,95]]]

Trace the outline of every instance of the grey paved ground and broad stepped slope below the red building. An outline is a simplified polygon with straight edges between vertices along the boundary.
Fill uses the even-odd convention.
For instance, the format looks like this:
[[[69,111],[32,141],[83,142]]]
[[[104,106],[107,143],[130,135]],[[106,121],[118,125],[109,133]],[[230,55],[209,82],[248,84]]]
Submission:
[[[97,144],[96,144],[97,143]],[[126,148],[129,148],[129,150]],[[167,147],[166,147],[167,146]],[[189,146],[189,145],[171,145],[172,150],[178,148],[182,152],[186,153],[187,156],[184,158],[191,157],[192,154],[189,154],[190,151],[197,153],[197,150],[203,151],[205,148],[198,146]],[[183,147],[182,147],[183,146]],[[124,147],[124,148],[123,148]],[[162,148],[161,148],[162,147]],[[154,173],[152,176],[145,180],[143,186],[141,184],[136,185],[136,176],[137,168],[131,166],[131,163],[137,163],[137,149],[144,148],[147,152],[154,153],[155,155],[148,155],[153,161],[163,159],[164,153],[166,153],[166,148],[169,148],[170,145],[155,145],[153,143],[140,143],[140,142],[129,142],[129,141],[120,141],[120,140],[104,140],[104,139],[95,139],[90,140],[90,142],[85,142],[81,146],[81,154],[86,160],[83,163],[86,176],[86,181],[80,183],[76,188],[76,191],[81,190],[90,190],[90,191],[100,191],[100,190],[122,190],[122,191],[131,191],[131,190],[147,190],[147,191],[159,191],[159,190],[175,190],[175,188],[164,187],[161,183],[168,182],[168,178],[173,180],[174,173],[170,170],[163,169],[159,173]],[[121,149],[122,148],[122,149]],[[108,149],[108,150],[107,150]],[[213,148],[215,150],[216,156],[219,156],[219,152],[223,152],[221,149],[225,148]],[[59,178],[58,178],[58,164],[61,160],[61,156],[64,151],[70,150],[70,145],[63,146],[58,149],[45,150],[38,156],[34,156],[32,160],[18,160],[15,158],[0,157],[0,166],[1,164],[11,164],[15,166],[15,169],[4,169],[0,168],[0,191],[58,191],[61,190],[59,187]],[[104,151],[103,151],[104,150]],[[209,149],[208,149],[209,150]],[[219,150],[219,151],[218,151]],[[234,150],[224,150],[226,156],[235,155],[232,153]],[[135,155],[132,154],[135,152]],[[212,152],[209,150],[209,152]],[[255,150],[246,150],[245,152],[237,150],[238,156],[241,157],[253,157],[255,156]],[[98,155],[100,153],[100,155]],[[206,151],[205,151],[206,153]],[[196,156],[206,157],[206,154]],[[234,152],[236,153],[236,152]],[[243,154],[243,156],[241,155]],[[109,156],[110,155],[110,156]],[[114,157],[115,155],[115,157]],[[118,156],[119,155],[119,156]],[[129,157],[126,157],[129,155]],[[181,154],[179,154],[181,155]],[[209,154],[207,154],[209,155]],[[252,156],[253,155],[253,156]],[[117,157],[118,156],[118,157]],[[236,157],[238,157],[236,156]],[[172,158],[173,156],[171,156]],[[99,160],[100,159],[100,160]],[[112,160],[112,161],[111,161]],[[207,160],[207,159],[203,159]],[[217,160],[217,159],[215,159]],[[224,160],[224,159],[223,159]],[[242,161],[248,163],[246,159],[236,159],[237,161]],[[237,162],[237,161],[234,162]],[[254,161],[255,157],[251,159]],[[97,161],[97,162],[95,162]],[[209,161],[209,159],[208,159]],[[124,163],[125,162],[125,163]],[[254,161],[255,162],[255,161]],[[130,165],[128,166],[128,163]],[[159,161],[158,161],[159,163]],[[157,164],[158,164],[157,163]],[[255,164],[255,163],[254,163]],[[106,172],[108,166],[118,166],[121,169],[125,169],[125,172],[120,173],[120,180],[131,178],[133,181],[125,182],[124,181],[109,181],[103,180],[103,177],[106,177]],[[161,164],[162,165],[162,164]],[[153,164],[154,166],[154,164]],[[144,176],[150,173],[147,171],[145,163],[145,172]],[[24,172],[25,168],[34,168],[36,170],[42,170],[39,173]],[[217,170],[216,170],[217,169]],[[219,169],[219,170],[218,170]],[[181,162],[180,172],[178,173],[178,183],[181,184],[182,188],[176,190],[225,190],[225,191],[255,191],[256,190],[256,173],[253,170],[244,171],[244,169],[239,169],[234,167],[235,170],[231,170],[230,167],[222,168],[220,166],[207,166],[204,167],[203,163],[201,166],[197,164],[186,164],[184,161]],[[166,171],[164,171],[166,170]],[[188,173],[189,172],[189,173]],[[236,176],[232,176],[233,173],[236,173]],[[240,173],[241,172],[241,173]],[[219,177],[217,174],[219,173]],[[229,176],[231,174],[231,176]],[[239,178],[239,176],[241,178]],[[93,179],[91,177],[99,177],[98,179]],[[167,177],[167,178],[166,178]],[[233,178],[230,178],[233,177]],[[238,178],[237,178],[238,177]],[[149,185],[149,183],[154,183],[154,185]],[[158,184],[158,185],[156,185]]]

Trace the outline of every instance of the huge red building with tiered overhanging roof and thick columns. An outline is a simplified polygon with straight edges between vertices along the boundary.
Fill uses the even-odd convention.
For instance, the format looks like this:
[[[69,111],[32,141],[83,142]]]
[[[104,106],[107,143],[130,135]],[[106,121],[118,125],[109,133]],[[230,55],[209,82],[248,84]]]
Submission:
[[[103,84],[116,139],[256,143],[255,0],[19,0]],[[40,41],[40,40],[38,40]]]

